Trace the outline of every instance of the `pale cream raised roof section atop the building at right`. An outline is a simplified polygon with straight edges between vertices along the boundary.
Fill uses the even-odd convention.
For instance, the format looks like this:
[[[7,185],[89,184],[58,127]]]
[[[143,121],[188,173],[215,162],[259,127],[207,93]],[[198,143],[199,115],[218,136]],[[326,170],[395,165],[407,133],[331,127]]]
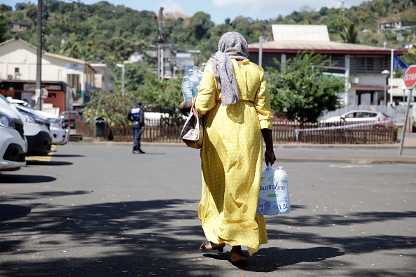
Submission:
[[[326,25],[272,24],[274,41],[330,41]]]

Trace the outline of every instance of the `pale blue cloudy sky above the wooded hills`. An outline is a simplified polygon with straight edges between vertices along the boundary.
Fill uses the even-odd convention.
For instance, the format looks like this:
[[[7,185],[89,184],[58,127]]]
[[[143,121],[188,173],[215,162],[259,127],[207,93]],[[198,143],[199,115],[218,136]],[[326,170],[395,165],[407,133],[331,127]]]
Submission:
[[[81,1],[85,4],[97,3],[99,0],[64,0],[65,2]],[[285,16],[293,11],[301,11],[307,6],[307,10],[320,10],[328,8],[340,8],[342,1],[345,8],[358,6],[363,0],[106,0],[113,5],[123,5],[134,10],[151,10],[158,13],[160,7],[164,13],[179,12],[185,15],[195,15],[198,11],[211,15],[215,24],[222,24],[226,18],[233,20],[235,17],[251,17],[254,20],[269,20],[279,15]],[[8,6],[15,7],[16,3],[35,3],[36,0],[2,0]]]

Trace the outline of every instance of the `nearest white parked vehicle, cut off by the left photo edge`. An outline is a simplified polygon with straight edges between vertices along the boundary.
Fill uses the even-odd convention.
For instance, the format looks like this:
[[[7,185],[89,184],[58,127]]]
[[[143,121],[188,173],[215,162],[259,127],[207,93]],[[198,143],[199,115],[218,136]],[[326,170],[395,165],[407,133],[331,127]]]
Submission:
[[[0,94],[0,171],[25,166],[27,139],[20,113]]]

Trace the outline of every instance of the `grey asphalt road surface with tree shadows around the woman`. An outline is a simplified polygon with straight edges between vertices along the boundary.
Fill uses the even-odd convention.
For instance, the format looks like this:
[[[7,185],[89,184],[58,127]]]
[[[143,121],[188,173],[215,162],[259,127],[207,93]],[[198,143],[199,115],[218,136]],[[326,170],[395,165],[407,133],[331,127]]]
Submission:
[[[143,149],[69,143],[0,173],[0,276],[416,276],[416,164],[277,149],[291,213],[266,217],[269,243],[237,268],[230,247],[197,250],[199,152]]]

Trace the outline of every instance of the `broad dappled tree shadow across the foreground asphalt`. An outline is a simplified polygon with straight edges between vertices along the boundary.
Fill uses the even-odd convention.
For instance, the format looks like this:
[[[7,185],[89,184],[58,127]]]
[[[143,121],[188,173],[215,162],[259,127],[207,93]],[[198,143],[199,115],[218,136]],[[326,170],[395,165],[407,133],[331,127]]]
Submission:
[[[64,192],[62,195],[82,193],[85,192]],[[60,192],[48,192],[33,194],[32,197],[42,200],[42,197],[51,195],[62,196]],[[415,238],[403,236],[368,234],[338,237],[279,230],[279,234],[271,232],[274,234],[269,235],[270,241],[282,236],[286,241],[307,241],[319,247],[261,248],[249,258],[247,267],[228,267],[230,253],[205,254],[207,258],[204,258],[204,253],[197,250],[204,239],[195,211],[197,202],[168,199],[36,208],[36,213],[32,211],[25,218],[15,216],[3,222],[0,229],[0,236],[4,238],[0,243],[3,260],[0,275],[26,277],[124,274],[123,276],[188,277],[207,274],[224,276],[226,271],[228,276],[240,276],[244,275],[244,271],[272,272],[303,262],[331,262],[329,259],[347,254],[416,248]],[[22,208],[20,215],[24,216],[25,211],[27,210]],[[356,216],[358,217],[358,214]],[[369,220],[398,220],[396,216],[396,213],[375,213]],[[414,217],[415,212],[401,215],[402,218],[406,216]],[[313,221],[317,224],[317,219],[304,221],[303,217],[281,217],[278,220],[279,225],[289,224],[288,222],[296,226],[309,225]],[[332,220],[341,221],[339,218]],[[25,236],[10,236],[14,232],[20,232]],[[38,241],[36,243],[33,239],[34,234]],[[305,270],[305,275],[309,273],[308,267],[298,267],[298,270]],[[13,269],[17,269],[18,272]],[[324,276],[328,269],[321,270],[325,270],[321,271],[321,276]],[[390,272],[386,274],[389,276]],[[394,272],[391,274],[394,276]]]

